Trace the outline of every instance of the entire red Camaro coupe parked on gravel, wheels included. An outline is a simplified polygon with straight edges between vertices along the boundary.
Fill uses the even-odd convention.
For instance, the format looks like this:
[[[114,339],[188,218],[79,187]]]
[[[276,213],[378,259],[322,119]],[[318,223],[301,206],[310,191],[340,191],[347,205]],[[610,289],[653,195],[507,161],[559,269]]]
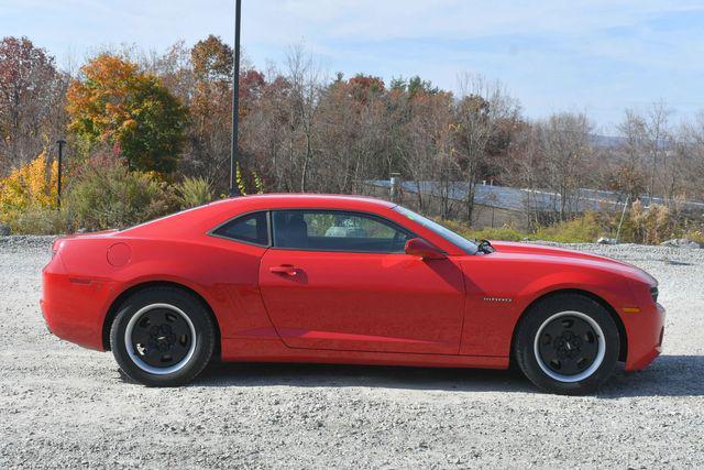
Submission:
[[[112,350],[147,385],[223,361],[505,369],[595,390],[662,343],[657,281],[606,258],[475,243],[378,199],[227,199],[61,238],[43,271],[51,331]]]

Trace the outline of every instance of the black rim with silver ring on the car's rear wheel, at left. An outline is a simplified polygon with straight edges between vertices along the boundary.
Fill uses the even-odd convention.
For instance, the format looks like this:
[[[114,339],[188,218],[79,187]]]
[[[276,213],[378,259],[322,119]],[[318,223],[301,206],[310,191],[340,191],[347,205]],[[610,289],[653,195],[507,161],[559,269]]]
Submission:
[[[130,341],[136,357],[147,365],[172,368],[188,356],[194,338],[180,314],[168,308],[154,308],[140,316]]]

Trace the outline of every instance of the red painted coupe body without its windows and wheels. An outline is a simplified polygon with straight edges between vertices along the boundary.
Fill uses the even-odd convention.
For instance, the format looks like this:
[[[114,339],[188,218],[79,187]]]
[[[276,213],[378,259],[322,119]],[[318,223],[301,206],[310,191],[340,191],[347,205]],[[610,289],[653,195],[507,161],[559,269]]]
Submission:
[[[272,242],[279,210],[345,211],[400,227],[443,252],[299,250]],[[627,370],[660,352],[664,311],[657,282],[631,265],[575,251],[494,242],[470,254],[394,204],[362,197],[263,195],[212,203],[123,231],[56,240],[43,271],[51,331],[110,348],[121,300],[154,285],[202,299],[224,361],[507,368],[516,325],[559,292],[596,299],[614,317]],[[219,236],[248,214],[266,215],[266,243]]]

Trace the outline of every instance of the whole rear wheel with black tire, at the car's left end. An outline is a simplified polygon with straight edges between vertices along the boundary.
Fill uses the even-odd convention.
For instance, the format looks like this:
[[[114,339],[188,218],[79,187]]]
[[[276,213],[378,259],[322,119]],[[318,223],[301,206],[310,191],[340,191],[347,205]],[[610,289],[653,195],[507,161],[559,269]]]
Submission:
[[[130,296],[110,328],[120,369],[147,386],[178,386],[210,362],[216,330],[202,303],[176,287],[153,287]]]

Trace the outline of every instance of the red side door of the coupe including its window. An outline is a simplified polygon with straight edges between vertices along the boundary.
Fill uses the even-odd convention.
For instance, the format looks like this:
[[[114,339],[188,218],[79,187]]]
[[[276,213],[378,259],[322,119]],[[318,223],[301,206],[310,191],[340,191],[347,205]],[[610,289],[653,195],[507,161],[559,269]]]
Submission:
[[[414,237],[361,212],[273,212],[260,266],[266,309],[292,348],[457,354],[464,284],[451,259],[404,253]]]

